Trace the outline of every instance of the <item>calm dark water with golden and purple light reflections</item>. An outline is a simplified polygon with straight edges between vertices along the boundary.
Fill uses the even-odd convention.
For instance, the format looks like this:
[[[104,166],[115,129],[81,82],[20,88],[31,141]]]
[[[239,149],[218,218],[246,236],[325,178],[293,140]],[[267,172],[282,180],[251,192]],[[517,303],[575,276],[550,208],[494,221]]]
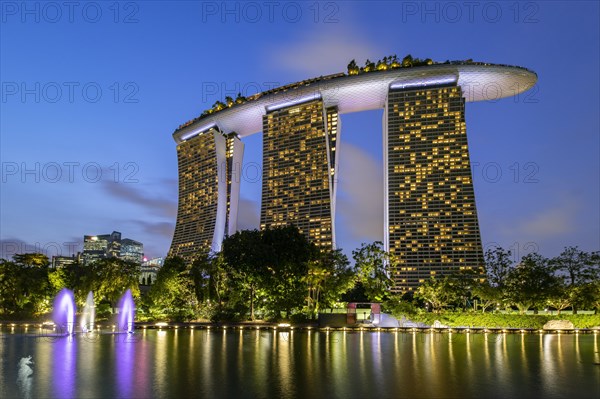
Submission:
[[[0,398],[600,397],[593,334],[0,334]]]

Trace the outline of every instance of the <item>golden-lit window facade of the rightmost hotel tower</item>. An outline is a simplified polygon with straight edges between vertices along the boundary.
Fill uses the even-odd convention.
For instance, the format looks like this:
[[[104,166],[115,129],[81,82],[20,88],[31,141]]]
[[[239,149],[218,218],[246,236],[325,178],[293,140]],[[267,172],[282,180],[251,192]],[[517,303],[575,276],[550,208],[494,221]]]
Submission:
[[[396,292],[483,262],[459,87],[390,91],[388,226]]]

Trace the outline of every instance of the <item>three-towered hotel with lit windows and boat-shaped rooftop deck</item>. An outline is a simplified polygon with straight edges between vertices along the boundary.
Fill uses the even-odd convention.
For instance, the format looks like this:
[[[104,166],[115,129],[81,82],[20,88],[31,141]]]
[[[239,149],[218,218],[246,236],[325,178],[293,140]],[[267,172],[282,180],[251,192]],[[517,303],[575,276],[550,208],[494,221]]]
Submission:
[[[335,248],[339,115],[383,109],[383,236],[394,255],[389,265],[394,291],[480,269],[465,103],[516,95],[536,81],[525,68],[481,63],[342,73],[202,115],[173,134],[180,181],[170,254],[191,260],[201,250],[218,251],[223,238],[235,232],[240,174],[238,181],[218,176],[236,175],[227,160],[241,165],[243,144],[235,136],[233,150],[226,151],[228,132],[242,140],[263,133],[260,227],[294,224],[318,247]]]

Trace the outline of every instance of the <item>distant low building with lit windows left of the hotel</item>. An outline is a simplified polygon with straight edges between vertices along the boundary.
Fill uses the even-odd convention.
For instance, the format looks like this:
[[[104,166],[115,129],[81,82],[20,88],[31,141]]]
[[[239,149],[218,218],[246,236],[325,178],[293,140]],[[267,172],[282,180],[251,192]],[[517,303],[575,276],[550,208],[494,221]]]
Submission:
[[[125,248],[123,248],[125,244]],[[142,263],[144,246],[142,243],[129,238],[121,239],[121,233],[83,236],[84,265],[90,265],[100,259],[118,258]]]

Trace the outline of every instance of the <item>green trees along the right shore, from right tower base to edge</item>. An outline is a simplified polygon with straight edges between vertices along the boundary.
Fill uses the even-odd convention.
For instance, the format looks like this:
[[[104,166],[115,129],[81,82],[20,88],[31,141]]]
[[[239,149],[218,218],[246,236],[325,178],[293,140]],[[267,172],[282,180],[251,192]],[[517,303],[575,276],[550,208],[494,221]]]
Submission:
[[[482,278],[483,277],[483,278]],[[600,308],[600,253],[566,247],[554,258],[530,253],[516,263],[510,251],[494,248],[485,253],[485,274],[465,270],[441,279],[431,278],[415,298],[434,312],[466,309],[477,301],[482,312],[516,308],[523,314],[542,309]]]

